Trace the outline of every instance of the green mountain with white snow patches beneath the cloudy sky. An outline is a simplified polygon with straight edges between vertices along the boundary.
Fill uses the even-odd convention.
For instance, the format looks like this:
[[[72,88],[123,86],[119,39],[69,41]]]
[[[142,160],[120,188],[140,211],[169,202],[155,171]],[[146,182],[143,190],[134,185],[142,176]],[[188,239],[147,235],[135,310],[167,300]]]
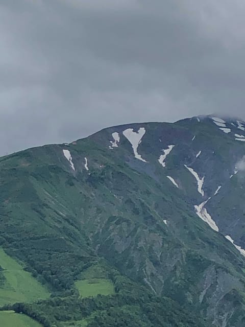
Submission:
[[[210,115],[0,158],[0,319],[244,326],[244,155]]]

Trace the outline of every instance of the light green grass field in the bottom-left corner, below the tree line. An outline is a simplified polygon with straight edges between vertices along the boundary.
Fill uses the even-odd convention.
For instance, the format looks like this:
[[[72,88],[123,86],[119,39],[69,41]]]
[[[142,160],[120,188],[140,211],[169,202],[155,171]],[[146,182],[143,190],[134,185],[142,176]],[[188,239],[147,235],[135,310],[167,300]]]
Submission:
[[[0,325],[1,327],[41,327],[30,317],[14,311],[0,311]]]

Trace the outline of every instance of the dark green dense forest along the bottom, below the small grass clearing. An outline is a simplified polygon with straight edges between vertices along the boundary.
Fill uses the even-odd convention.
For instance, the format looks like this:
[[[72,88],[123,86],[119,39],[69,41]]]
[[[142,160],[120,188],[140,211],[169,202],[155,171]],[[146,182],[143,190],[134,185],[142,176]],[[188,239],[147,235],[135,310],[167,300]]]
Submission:
[[[36,303],[15,303],[3,307],[24,313],[43,327],[61,326],[64,321],[88,319],[88,327],[204,327],[197,317],[182,310],[173,300],[157,297],[143,286],[111,269],[115,295],[79,298],[74,290]],[[63,294],[64,295],[64,294]]]

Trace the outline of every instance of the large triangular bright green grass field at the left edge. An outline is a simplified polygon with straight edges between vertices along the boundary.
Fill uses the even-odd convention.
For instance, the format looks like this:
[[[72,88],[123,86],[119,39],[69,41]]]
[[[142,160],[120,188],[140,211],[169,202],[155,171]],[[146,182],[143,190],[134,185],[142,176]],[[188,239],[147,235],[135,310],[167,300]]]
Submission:
[[[0,266],[4,269],[6,279],[4,287],[0,288],[0,306],[14,302],[31,302],[50,296],[48,290],[31,273],[24,271],[23,267],[2,248],[0,248]]]

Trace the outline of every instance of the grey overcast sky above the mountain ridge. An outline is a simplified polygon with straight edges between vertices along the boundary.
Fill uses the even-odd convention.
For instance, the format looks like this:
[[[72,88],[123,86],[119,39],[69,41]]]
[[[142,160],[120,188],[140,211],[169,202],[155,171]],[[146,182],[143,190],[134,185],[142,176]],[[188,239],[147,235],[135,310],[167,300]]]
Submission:
[[[104,127],[245,119],[244,0],[0,0],[0,155]]]

